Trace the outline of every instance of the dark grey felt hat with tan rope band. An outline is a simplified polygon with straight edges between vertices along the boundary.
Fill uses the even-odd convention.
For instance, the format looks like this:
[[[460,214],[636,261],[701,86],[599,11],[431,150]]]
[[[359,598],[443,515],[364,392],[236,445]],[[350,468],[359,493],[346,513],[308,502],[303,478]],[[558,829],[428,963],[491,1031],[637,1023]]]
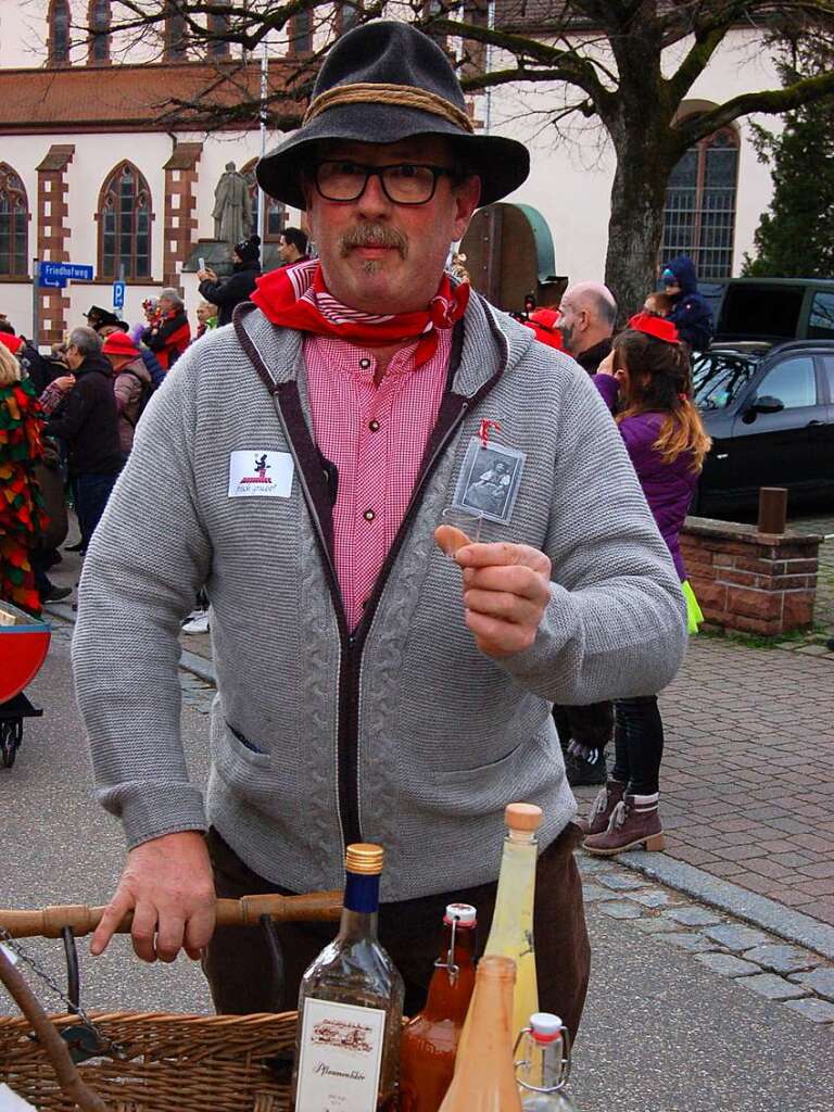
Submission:
[[[301,127],[260,159],[258,182],[270,197],[302,209],[298,171],[315,143],[390,143],[413,136],[455,140],[463,165],[480,178],[480,205],[506,197],[529,172],[522,143],[474,133],[460,83],[433,39],[407,23],[376,20],[330,49]]]

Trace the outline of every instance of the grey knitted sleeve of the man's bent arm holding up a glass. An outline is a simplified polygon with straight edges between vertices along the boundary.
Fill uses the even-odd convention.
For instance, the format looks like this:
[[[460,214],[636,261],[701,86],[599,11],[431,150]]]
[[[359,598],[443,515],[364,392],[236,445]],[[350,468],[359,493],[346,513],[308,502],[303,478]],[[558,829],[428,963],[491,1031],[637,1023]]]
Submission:
[[[675,676],[686,605],[617,426],[576,376],[558,423],[550,602],[534,644],[499,661],[554,703],[654,695]]]

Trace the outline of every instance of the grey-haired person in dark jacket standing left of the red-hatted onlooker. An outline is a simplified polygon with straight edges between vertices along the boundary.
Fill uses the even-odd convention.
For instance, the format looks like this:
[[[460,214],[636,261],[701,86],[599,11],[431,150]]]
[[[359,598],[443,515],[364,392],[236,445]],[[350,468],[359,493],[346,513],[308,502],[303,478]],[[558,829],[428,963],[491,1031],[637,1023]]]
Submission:
[[[46,431],[60,437],[69,448],[81,550],[85,550],[121,470],[119,414],[112,368],[101,354],[101,338],[92,328],[72,329],[67,364],[76,376],[76,385],[60,413],[47,423]]]

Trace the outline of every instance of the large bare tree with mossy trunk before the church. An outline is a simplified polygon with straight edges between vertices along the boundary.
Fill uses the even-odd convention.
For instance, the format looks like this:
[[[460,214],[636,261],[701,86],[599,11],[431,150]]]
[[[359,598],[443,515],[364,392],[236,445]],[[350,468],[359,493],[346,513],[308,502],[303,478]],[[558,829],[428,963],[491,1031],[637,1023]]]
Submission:
[[[565,95],[549,125],[558,127],[577,113],[595,119],[614,149],[605,277],[626,308],[639,305],[654,281],[666,186],[685,151],[741,117],[778,115],[834,90],[832,70],[733,97],[697,116],[681,113],[693,85],[735,28],[758,30],[763,43],[786,24],[800,39],[831,37],[834,0],[401,0],[394,6],[381,0],[335,6],[320,0],[120,0],[118,7],[122,11],[113,30],[145,34],[175,17],[185,28],[188,50],[210,57],[212,43],[237,44],[244,72],[251,70],[266,36],[286,31],[292,46],[298,27],[304,28],[305,49],[290,50],[279,87],[266,98],[248,76],[237,79],[240,97],[230,106],[235,66],[228,63],[199,97],[172,95],[169,111],[183,121],[210,121],[214,112],[216,121],[244,122],[266,111],[271,126],[297,122],[311,77],[335,37],[386,12],[438,38],[469,91],[557,82]],[[317,50],[306,49],[308,32]],[[671,48],[677,48],[679,60],[667,76],[662,63]],[[486,63],[487,49],[495,66]]]

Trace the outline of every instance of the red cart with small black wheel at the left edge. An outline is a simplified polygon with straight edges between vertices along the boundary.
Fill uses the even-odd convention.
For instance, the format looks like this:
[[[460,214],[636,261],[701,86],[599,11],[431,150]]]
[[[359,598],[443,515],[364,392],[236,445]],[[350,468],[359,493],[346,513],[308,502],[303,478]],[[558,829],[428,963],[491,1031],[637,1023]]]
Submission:
[[[23,737],[23,718],[37,711],[23,694],[49,651],[46,622],[0,599],[0,767],[11,768]]]

